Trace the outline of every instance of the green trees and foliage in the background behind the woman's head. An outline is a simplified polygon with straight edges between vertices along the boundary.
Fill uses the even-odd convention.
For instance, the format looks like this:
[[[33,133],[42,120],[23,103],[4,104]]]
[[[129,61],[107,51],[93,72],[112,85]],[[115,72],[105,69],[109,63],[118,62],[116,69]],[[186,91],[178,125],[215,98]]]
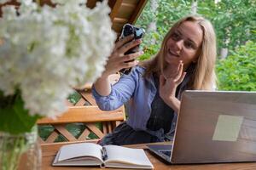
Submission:
[[[160,48],[161,41],[173,23],[190,14],[192,0],[156,0],[158,9],[152,13],[150,0],[137,20],[137,26],[147,30],[148,24],[156,20],[157,30],[146,32],[143,38],[144,54],[140,59],[149,59]],[[197,0],[197,13],[212,22],[221,48],[228,48],[226,59],[218,59],[216,71],[219,90],[256,91],[255,42],[256,1],[255,0]],[[152,43],[152,39],[155,40]]]

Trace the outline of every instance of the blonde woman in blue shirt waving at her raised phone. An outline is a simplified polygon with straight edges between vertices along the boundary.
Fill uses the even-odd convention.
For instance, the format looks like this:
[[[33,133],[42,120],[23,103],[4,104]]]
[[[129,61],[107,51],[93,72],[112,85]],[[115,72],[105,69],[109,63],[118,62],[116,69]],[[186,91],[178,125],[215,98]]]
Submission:
[[[214,64],[216,38],[212,24],[202,17],[179,20],[164,38],[153,59],[138,64],[126,63],[143,54],[125,52],[141,43],[125,37],[116,43],[106,70],[93,86],[97,105],[111,111],[127,103],[128,120],[106,135],[100,144],[139,144],[172,138],[186,89],[212,90],[215,85]],[[120,57],[121,56],[121,57]],[[110,74],[133,67],[111,86]]]

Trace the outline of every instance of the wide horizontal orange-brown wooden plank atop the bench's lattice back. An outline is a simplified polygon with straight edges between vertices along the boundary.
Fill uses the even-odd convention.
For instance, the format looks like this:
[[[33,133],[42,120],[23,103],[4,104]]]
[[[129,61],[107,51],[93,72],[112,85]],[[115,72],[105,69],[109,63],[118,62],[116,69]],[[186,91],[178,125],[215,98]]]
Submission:
[[[115,111],[101,111],[97,106],[76,106],[70,107],[67,112],[57,119],[43,118],[38,120],[38,124],[60,124],[72,122],[106,122],[106,121],[123,121],[124,114],[120,107]]]

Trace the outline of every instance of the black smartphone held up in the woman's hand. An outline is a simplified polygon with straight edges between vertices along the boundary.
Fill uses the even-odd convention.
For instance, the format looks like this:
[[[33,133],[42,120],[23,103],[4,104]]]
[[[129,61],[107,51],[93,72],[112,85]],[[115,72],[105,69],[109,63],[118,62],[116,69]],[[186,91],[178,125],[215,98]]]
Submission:
[[[125,24],[123,26],[121,36],[119,37],[119,39],[130,36],[131,34],[134,35],[133,39],[135,39],[135,40],[141,39],[141,38],[143,38],[145,31],[143,28],[139,28],[137,26],[132,26],[131,24]],[[139,45],[137,45],[134,48],[129,49],[127,52],[125,52],[125,54],[133,54],[138,51],[139,51]],[[131,62],[131,61],[134,61],[134,59],[131,59],[126,62]],[[119,72],[121,72],[122,74],[129,74],[131,72],[131,68],[125,68],[125,69],[120,70]]]

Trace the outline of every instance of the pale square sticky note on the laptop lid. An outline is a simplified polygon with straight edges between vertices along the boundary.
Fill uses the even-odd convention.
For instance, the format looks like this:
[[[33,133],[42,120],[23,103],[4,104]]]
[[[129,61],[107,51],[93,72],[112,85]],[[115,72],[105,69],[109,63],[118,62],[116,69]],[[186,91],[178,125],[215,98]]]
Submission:
[[[237,140],[243,116],[219,115],[212,140],[231,141]]]

